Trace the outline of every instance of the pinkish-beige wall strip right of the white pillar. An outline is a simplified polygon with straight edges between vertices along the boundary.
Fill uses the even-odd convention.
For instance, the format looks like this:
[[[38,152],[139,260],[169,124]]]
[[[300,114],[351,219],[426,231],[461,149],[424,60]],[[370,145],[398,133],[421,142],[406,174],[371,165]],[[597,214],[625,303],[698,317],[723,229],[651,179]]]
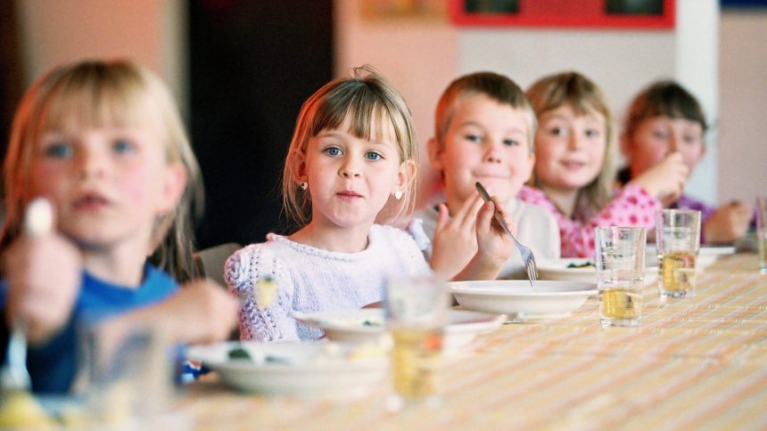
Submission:
[[[722,12],[720,201],[767,196],[767,11]]]

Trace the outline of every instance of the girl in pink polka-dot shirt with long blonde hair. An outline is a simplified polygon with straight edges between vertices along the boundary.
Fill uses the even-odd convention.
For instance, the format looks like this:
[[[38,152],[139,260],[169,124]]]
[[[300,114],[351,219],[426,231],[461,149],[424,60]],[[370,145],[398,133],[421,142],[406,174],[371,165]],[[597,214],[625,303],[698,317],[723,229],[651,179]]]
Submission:
[[[614,191],[613,120],[601,90],[577,72],[543,77],[527,96],[538,116],[532,187],[519,198],[559,224],[563,257],[594,256],[594,228],[654,224],[661,201],[678,197],[689,169],[672,153]]]

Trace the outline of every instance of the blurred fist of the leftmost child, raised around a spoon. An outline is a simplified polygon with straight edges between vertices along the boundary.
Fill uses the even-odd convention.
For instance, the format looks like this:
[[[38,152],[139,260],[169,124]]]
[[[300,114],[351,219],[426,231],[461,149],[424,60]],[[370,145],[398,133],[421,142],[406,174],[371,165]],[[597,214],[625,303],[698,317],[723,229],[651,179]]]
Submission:
[[[3,256],[8,280],[6,318],[9,325],[24,322],[32,345],[44,343],[69,321],[82,277],[78,249],[54,232],[50,205],[46,201],[40,205],[45,207],[43,213],[29,211],[24,232]]]

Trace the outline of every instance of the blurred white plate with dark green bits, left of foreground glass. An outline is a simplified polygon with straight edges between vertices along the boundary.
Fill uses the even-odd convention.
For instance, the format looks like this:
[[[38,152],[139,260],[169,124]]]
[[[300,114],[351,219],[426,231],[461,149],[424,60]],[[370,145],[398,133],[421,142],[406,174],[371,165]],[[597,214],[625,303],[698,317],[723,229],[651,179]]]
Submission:
[[[245,349],[252,360],[230,359],[229,352],[236,347]],[[186,356],[202,361],[218,371],[224,383],[246,392],[347,398],[366,394],[386,376],[386,355],[369,354],[370,348],[345,343],[232,341],[191,346]]]

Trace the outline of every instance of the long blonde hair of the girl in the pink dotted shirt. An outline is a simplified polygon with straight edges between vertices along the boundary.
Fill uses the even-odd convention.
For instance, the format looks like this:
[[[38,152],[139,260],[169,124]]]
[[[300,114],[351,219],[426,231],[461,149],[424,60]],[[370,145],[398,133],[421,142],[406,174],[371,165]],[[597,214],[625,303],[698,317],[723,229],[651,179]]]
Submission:
[[[527,97],[530,98],[538,118],[564,105],[572,108],[578,116],[597,111],[605,118],[605,159],[597,177],[579,191],[575,214],[590,213],[605,207],[614,197],[615,136],[613,116],[602,90],[588,77],[570,71],[540,78],[528,88]],[[541,185],[537,173],[532,175],[532,184],[536,187]]]

